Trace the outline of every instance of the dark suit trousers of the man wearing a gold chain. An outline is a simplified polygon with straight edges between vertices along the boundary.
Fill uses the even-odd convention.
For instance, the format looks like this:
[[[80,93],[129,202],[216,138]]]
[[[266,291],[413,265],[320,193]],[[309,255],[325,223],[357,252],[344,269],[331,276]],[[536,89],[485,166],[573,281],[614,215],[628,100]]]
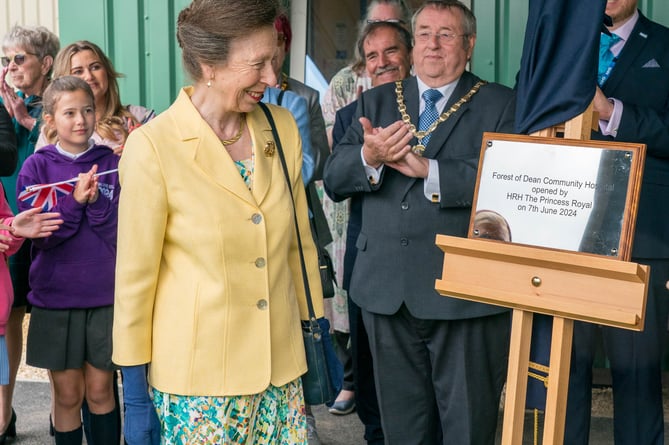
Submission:
[[[508,312],[421,320],[362,310],[388,445],[492,445],[509,350]],[[440,428],[441,426],[441,428]]]

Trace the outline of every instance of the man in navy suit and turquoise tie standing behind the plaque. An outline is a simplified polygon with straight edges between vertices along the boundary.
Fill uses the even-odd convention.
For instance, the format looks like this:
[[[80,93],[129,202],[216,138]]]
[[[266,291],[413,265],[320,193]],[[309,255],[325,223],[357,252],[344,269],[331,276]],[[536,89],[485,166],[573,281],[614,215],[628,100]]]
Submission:
[[[669,292],[669,29],[637,10],[637,0],[608,0],[602,33],[593,139],[646,144],[632,260],[651,266],[642,332],[574,324],[564,443],[587,444],[592,364],[598,331],[611,366],[616,445],[664,443],[662,357]],[[662,203],[662,204],[661,204]],[[587,235],[586,235],[587,236]]]

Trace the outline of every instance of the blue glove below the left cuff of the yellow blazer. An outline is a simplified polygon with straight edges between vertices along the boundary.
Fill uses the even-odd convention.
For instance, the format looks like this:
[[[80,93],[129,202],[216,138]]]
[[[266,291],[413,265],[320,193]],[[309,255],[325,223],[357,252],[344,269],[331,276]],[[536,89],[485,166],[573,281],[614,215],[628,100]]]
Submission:
[[[123,366],[123,434],[129,445],[160,445],[160,421],[149,396],[146,365]]]

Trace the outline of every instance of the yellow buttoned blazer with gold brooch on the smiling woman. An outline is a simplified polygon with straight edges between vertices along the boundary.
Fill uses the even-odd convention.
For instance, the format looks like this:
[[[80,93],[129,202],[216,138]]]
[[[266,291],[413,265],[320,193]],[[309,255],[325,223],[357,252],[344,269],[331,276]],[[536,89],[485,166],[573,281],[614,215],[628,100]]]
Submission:
[[[240,395],[306,372],[307,319],[293,210],[259,107],[249,113],[253,191],[184,88],[133,131],[120,163],[113,360],[150,363],[151,385],[182,395]],[[290,113],[270,105],[285,151],[317,316],[318,260]]]

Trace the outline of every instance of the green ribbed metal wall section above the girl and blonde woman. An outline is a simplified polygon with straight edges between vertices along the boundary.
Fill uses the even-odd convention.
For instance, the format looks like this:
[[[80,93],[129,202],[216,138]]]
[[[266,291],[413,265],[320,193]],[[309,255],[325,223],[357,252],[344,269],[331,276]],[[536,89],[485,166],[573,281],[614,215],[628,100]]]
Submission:
[[[188,0],[60,0],[60,38],[99,45],[125,75],[123,103],[162,111],[185,83],[176,19]]]

